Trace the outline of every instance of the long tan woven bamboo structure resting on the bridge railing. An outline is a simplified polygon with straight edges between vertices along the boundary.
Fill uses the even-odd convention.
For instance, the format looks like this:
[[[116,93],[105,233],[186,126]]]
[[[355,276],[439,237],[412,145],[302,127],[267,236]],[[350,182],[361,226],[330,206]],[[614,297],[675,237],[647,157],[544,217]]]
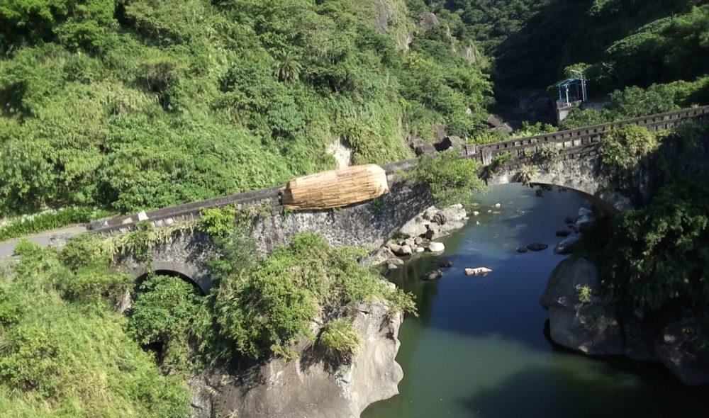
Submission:
[[[376,164],[350,166],[298,177],[281,188],[289,210],[341,208],[389,193],[386,172]]]

